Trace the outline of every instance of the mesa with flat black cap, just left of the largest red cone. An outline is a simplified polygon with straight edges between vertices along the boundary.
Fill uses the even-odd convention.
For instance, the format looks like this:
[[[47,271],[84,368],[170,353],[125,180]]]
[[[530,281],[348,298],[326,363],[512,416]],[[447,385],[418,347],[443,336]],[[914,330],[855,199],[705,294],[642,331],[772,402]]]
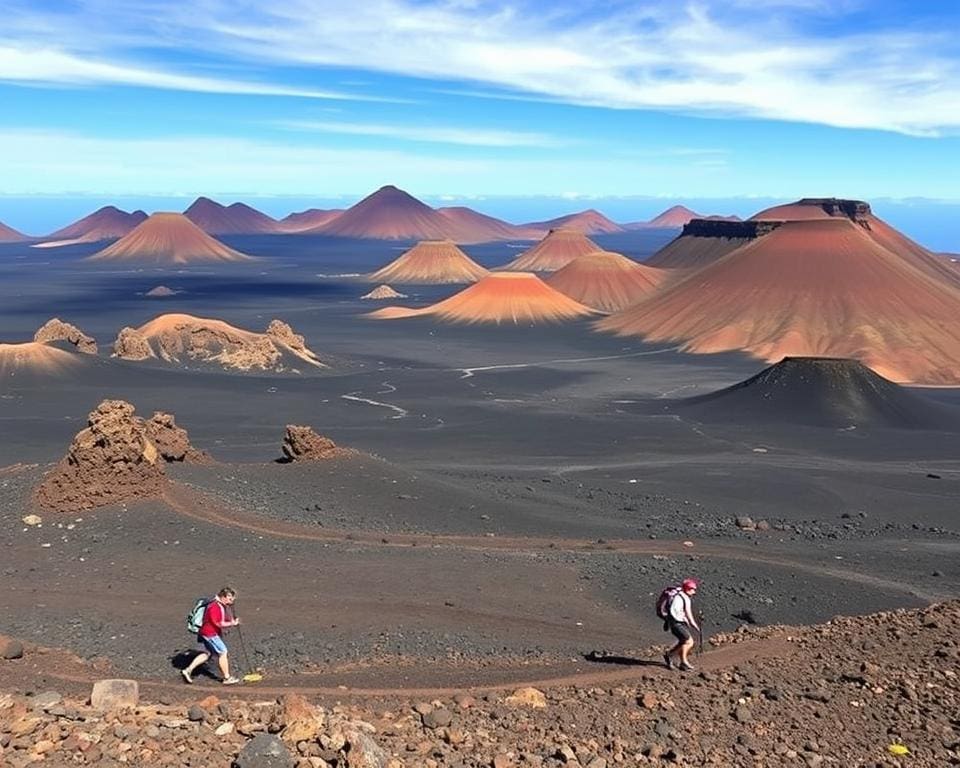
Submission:
[[[699,269],[719,261],[780,226],[779,221],[693,219],[683,231],[643,263],[658,269]]]

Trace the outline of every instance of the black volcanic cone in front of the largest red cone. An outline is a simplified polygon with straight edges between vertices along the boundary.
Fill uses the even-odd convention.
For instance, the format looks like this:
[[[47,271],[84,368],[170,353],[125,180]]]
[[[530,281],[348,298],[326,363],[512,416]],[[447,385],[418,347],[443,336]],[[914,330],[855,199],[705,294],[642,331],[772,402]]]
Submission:
[[[842,358],[786,357],[746,381],[683,400],[675,409],[703,421],[738,424],[960,430],[960,410]]]

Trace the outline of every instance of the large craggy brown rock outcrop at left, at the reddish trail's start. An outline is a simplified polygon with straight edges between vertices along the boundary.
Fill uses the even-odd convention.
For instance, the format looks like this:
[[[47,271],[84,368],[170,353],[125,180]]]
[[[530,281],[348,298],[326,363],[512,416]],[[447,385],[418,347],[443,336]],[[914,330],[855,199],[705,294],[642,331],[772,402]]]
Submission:
[[[167,461],[205,458],[169,414],[156,413],[145,421],[130,403],[104,400],[34,498],[55,512],[153,498],[163,492]]]

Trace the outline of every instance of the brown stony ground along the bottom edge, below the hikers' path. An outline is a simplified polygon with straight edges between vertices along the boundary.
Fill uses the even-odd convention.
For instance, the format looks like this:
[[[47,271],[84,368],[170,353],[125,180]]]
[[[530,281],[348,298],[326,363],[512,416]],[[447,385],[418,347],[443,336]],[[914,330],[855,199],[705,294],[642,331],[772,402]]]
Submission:
[[[0,694],[0,765],[960,765],[958,621],[952,601],[745,629],[700,671],[610,658],[615,676],[417,698],[183,686],[148,702],[101,683],[90,703],[31,683],[18,669],[40,651],[7,640],[0,672],[20,685]]]

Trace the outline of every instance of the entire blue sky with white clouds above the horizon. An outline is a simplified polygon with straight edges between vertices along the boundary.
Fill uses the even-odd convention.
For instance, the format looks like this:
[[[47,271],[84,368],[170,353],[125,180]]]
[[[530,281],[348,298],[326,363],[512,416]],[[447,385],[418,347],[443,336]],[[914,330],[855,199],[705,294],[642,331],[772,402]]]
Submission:
[[[960,202],[955,2],[0,0],[0,20],[14,225],[24,200],[293,210],[383,184]]]

